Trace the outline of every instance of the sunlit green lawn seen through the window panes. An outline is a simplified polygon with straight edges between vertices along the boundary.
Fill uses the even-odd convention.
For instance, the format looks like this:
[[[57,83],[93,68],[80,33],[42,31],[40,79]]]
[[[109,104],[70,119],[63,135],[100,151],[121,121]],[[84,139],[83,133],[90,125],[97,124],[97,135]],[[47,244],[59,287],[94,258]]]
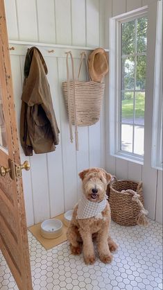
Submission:
[[[121,102],[122,108],[122,118],[130,119],[133,117],[133,99],[124,99]],[[145,99],[144,95],[139,93],[135,99],[135,117],[144,118],[144,105]]]

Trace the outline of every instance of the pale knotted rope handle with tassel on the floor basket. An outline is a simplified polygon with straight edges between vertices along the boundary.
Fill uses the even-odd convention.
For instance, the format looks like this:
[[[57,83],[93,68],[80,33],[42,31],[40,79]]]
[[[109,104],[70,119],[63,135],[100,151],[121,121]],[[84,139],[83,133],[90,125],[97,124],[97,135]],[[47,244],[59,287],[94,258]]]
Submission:
[[[140,182],[140,184],[141,183],[142,182]],[[141,184],[141,186],[142,186],[142,184]],[[139,185],[138,185],[138,187],[139,187]],[[148,215],[148,210],[144,209],[143,204],[139,200],[139,194],[137,194],[137,192],[132,190],[132,189],[122,190],[121,192],[126,192],[128,194],[132,194],[132,201],[135,201],[137,203],[137,205],[139,206],[140,212],[139,212],[139,216],[137,217],[137,224],[138,225],[148,225],[148,221],[146,219],[146,216]]]

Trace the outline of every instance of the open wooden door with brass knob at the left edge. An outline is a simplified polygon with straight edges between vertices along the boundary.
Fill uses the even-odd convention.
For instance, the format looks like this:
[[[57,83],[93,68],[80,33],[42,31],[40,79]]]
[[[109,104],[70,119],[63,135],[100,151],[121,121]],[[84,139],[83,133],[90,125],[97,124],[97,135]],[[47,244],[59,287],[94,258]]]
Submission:
[[[28,164],[24,168],[28,170]],[[0,0],[0,248],[19,289],[33,289],[3,0]]]

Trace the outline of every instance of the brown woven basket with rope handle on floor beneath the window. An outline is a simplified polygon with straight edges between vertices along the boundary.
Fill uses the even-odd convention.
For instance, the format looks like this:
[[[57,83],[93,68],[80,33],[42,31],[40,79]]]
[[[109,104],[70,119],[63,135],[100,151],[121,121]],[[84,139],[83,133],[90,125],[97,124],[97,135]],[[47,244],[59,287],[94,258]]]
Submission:
[[[112,220],[119,225],[148,225],[142,182],[115,178],[110,183],[109,203]]]

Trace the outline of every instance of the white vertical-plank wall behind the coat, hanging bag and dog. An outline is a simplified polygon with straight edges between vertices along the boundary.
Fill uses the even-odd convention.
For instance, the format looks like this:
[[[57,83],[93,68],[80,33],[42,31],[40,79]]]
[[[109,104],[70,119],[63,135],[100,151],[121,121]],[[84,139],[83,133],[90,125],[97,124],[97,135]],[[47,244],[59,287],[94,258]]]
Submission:
[[[24,40],[109,48],[109,18],[154,0],[5,0],[10,40]],[[144,167],[109,155],[109,98],[103,101],[101,120],[79,128],[80,151],[69,143],[69,128],[62,99],[65,58],[45,56],[60,144],[54,153],[29,158],[31,172],[23,173],[28,225],[69,210],[80,195],[78,172],[87,167],[106,167],[117,178],[143,180],[144,196],[152,219],[162,222],[162,172],[151,169],[148,148]],[[17,123],[23,83],[24,56],[11,56]],[[77,69],[78,60],[76,60]],[[106,96],[108,96],[108,78]],[[108,120],[108,118],[107,118]],[[106,148],[105,148],[106,147]],[[22,162],[24,156],[21,148]],[[151,158],[151,157],[150,157]],[[106,161],[106,164],[105,164]]]

